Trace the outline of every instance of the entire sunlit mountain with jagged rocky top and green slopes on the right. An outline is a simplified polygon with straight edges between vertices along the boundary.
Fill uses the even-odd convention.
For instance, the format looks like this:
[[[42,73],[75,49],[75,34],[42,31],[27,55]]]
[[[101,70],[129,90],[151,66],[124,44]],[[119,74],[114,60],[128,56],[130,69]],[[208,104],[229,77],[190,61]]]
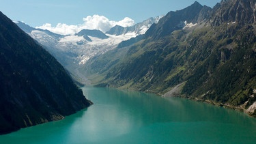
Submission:
[[[141,40],[89,59],[84,71],[100,87],[182,96],[256,116],[255,4],[195,2],[169,12]]]

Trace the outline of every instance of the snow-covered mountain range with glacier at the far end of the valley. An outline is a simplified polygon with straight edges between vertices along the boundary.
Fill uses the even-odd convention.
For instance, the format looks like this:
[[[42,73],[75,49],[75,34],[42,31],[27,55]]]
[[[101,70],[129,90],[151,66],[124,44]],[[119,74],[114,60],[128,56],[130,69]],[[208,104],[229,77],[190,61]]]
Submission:
[[[159,19],[160,17],[149,18],[132,27],[123,27],[124,29],[114,27],[115,33],[83,29],[74,35],[59,35],[48,30],[35,29],[22,22],[16,24],[42,44],[71,74],[78,76],[81,75],[78,74],[78,69],[89,58],[106,53],[122,41],[144,34],[153,23],[158,23]]]

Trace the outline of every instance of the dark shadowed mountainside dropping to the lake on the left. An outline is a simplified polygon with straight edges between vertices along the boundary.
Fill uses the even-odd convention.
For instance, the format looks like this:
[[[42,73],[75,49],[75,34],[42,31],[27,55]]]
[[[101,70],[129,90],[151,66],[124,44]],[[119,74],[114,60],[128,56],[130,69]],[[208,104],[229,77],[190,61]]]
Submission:
[[[91,104],[57,60],[1,12],[0,55],[0,134]]]

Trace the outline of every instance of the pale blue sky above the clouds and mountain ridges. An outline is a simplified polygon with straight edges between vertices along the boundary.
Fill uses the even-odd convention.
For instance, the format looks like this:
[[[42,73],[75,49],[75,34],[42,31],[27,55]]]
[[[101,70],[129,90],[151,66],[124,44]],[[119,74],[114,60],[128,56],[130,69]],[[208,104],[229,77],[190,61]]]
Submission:
[[[221,0],[197,1],[201,5],[213,7]],[[97,18],[110,20],[111,23],[122,20],[122,23],[126,23],[127,20],[128,25],[131,25],[132,22],[139,23],[150,17],[165,15],[169,11],[181,10],[194,2],[195,0],[0,0],[0,10],[12,20],[23,21],[32,27],[46,23],[48,27],[57,27],[58,23],[65,26],[83,25],[85,21],[91,23],[88,20],[95,21]]]

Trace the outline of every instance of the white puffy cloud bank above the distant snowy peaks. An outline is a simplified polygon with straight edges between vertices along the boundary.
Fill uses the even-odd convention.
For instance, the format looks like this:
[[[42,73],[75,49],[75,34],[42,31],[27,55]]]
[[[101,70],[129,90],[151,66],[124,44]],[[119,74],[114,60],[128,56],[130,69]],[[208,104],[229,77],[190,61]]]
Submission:
[[[47,29],[48,31],[52,31],[53,33],[58,33],[61,35],[73,35],[82,29],[99,29],[100,31],[106,32],[115,25],[130,27],[134,25],[134,20],[126,17],[123,20],[114,21],[109,20],[109,18],[106,18],[105,16],[99,16],[96,14],[94,16],[87,16],[86,18],[83,18],[83,24],[79,25],[66,25],[65,23],[58,23],[55,27],[53,27],[50,23],[46,23],[36,28]]]

